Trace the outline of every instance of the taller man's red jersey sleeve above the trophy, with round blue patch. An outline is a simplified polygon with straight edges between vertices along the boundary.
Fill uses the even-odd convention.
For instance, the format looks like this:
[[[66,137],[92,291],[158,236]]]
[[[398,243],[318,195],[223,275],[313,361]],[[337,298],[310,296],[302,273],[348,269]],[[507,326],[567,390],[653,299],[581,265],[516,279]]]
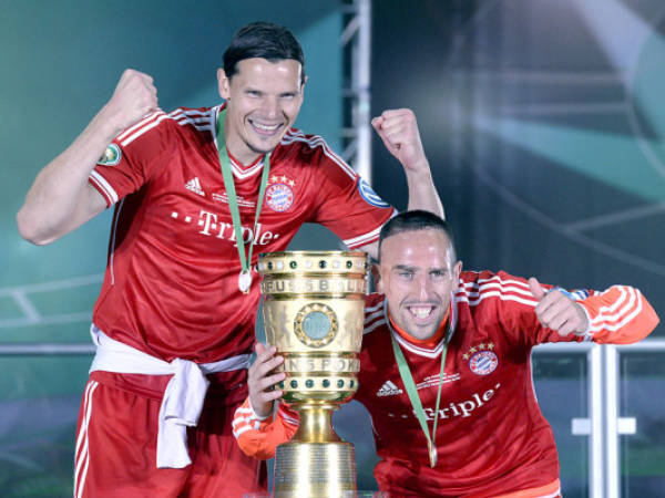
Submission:
[[[337,156],[324,142],[314,142],[311,163],[316,165],[313,187],[317,204],[308,221],[318,222],[337,235],[349,249],[379,239],[381,226],[397,214]],[[310,138],[314,141],[314,137]]]

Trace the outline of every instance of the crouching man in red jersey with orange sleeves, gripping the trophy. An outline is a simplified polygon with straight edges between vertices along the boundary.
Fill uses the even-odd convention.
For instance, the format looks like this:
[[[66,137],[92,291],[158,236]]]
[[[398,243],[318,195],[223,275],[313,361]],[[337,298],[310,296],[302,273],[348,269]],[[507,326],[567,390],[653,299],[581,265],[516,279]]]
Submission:
[[[431,212],[398,215],[379,243],[355,395],[371,416],[379,489],[391,498],[560,496],[531,350],[638,341],[658,323],[649,303],[627,286],[571,293],[503,271],[462,271],[450,228]],[[245,453],[269,458],[298,419],[284,404],[270,416],[283,357],[260,344],[256,352],[234,434]]]

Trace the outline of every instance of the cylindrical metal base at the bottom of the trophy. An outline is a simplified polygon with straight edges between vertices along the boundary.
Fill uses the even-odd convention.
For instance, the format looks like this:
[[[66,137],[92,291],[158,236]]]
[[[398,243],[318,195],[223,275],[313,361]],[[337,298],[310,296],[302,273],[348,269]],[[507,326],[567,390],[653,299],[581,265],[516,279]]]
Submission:
[[[276,498],[342,498],[356,491],[351,443],[287,443],[275,454]]]

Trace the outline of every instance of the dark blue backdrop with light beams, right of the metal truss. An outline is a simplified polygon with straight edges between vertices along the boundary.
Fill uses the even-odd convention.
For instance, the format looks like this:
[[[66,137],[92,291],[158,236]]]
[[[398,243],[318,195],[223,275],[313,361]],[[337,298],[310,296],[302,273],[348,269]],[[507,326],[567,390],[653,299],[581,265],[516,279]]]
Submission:
[[[464,268],[567,288],[627,283],[663,318],[663,1],[372,7],[372,113],[416,111]],[[401,177],[382,169],[390,158],[378,144],[374,157],[376,190],[400,205]],[[653,338],[664,335],[661,324]],[[534,369],[566,497],[587,496],[586,438],[571,434],[570,419],[586,416],[581,356]],[[636,419],[636,433],[621,437],[624,497],[665,489],[665,408],[655,395],[665,388],[664,360],[621,355],[620,416]]]

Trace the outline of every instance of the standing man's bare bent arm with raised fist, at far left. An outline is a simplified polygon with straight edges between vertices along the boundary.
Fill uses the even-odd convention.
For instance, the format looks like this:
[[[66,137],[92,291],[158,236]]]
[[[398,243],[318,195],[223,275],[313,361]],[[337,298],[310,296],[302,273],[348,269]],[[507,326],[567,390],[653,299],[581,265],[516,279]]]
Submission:
[[[38,174],[17,215],[21,237],[47,245],[103,211],[106,203],[89,184],[90,173],[120,132],[156,107],[152,77],[126,70],[81,135]]]

